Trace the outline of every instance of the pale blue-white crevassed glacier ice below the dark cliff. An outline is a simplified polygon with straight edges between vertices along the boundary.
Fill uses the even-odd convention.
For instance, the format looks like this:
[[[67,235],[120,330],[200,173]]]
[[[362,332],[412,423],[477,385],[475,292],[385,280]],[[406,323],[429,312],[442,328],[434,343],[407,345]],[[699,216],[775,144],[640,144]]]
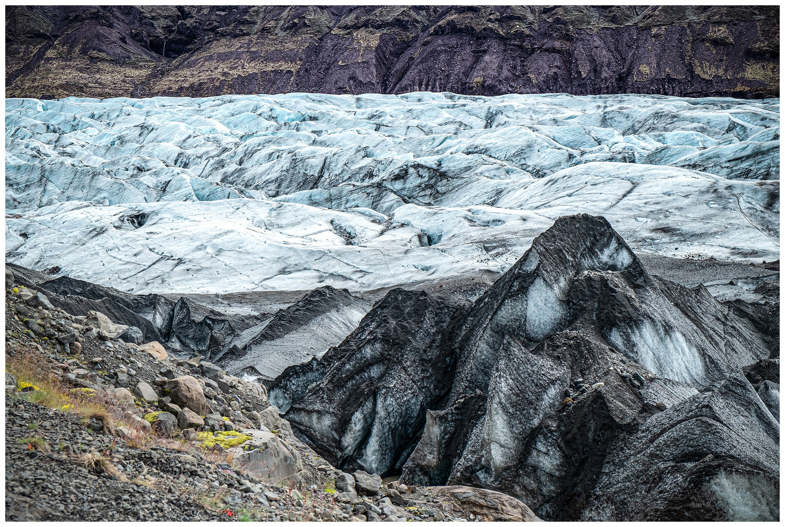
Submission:
[[[637,251],[776,259],[779,108],[564,94],[9,99],[6,258],[133,292],[366,289],[503,271],[555,218],[586,212]]]

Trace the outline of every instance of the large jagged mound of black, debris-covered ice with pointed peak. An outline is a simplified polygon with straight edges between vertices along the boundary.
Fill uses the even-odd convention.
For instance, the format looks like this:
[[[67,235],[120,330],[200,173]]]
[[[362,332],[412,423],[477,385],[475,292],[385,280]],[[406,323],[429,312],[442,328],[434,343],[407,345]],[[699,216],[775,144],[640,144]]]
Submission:
[[[407,484],[498,490],[553,520],[778,518],[772,339],[647,273],[604,218],[558,219],[468,312],[418,298],[409,319],[393,293],[281,378],[305,390],[293,429],[336,466],[405,461]],[[420,325],[374,341],[383,320]],[[758,491],[754,511],[731,497]]]

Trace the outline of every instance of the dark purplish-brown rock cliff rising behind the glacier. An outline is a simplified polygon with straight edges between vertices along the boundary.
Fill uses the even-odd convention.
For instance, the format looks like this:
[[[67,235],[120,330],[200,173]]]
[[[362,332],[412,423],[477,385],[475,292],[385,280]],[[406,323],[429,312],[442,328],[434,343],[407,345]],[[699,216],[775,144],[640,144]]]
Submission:
[[[13,6],[6,97],[779,97],[779,20],[776,5]]]

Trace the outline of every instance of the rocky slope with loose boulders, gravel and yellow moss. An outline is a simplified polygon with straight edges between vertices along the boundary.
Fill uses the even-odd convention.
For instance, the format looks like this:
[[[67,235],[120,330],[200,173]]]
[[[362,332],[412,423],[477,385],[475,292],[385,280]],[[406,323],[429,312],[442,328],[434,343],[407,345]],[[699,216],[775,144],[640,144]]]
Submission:
[[[128,328],[19,281],[6,272],[6,520],[536,519],[499,492],[336,470],[264,386],[123,342]]]

